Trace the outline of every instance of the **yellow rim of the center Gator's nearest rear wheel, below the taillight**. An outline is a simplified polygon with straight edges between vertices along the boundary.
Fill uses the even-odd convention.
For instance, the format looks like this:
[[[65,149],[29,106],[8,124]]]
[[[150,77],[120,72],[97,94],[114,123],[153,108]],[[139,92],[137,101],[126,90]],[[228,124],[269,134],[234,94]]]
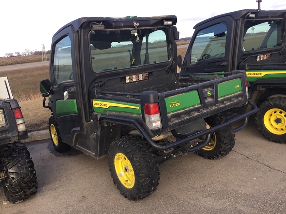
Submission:
[[[135,175],[128,158],[122,153],[117,153],[114,157],[114,167],[118,179],[128,189],[134,186]]]

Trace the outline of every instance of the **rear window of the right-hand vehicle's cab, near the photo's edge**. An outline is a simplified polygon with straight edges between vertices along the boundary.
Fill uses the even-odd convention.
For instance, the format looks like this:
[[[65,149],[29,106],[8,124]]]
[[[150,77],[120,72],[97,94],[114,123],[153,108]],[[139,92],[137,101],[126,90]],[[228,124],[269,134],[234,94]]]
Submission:
[[[281,46],[281,34],[278,34],[280,21],[246,21],[242,51],[259,50]]]

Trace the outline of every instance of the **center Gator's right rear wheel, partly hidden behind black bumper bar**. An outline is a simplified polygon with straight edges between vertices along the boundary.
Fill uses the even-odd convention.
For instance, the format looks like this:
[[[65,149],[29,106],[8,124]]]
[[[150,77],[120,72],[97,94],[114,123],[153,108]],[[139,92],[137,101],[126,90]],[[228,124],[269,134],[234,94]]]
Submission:
[[[225,122],[227,118],[219,113],[206,118],[206,122],[211,126],[217,126]],[[196,153],[206,159],[218,159],[226,156],[234,147],[235,134],[230,132],[226,127],[215,131],[211,135],[211,141],[203,149]]]

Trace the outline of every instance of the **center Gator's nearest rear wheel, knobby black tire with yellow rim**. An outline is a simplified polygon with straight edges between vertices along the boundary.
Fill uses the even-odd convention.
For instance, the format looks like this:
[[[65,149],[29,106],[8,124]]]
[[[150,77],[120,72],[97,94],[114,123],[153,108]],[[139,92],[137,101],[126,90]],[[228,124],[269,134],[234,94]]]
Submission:
[[[113,183],[129,200],[141,200],[159,185],[160,171],[155,154],[139,136],[127,135],[112,142],[108,166]]]

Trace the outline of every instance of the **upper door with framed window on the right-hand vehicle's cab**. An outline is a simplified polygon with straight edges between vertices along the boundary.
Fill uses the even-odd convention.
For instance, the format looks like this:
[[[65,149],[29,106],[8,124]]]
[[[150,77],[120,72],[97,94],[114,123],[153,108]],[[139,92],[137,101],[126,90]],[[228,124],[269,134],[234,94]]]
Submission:
[[[198,26],[185,55],[182,73],[231,71],[234,20],[218,18]]]

